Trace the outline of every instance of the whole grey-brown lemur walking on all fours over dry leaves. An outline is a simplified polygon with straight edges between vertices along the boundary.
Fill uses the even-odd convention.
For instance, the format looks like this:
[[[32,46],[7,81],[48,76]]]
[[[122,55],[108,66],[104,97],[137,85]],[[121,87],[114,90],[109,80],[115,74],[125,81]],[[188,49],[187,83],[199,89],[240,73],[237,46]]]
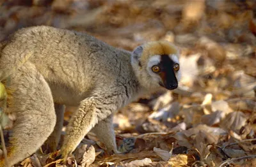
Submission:
[[[168,41],[151,41],[132,52],[86,33],[48,26],[20,29],[0,43],[0,80],[9,78],[16,120],[8,164],[35,153],[44,143],[56,150],[64,105],[78,106],[60,154],[67,157],[93,131],[115,153],[113,113],[142,94],[178,87],[179,52]],[[1,157],[0,166],[4,165]]]

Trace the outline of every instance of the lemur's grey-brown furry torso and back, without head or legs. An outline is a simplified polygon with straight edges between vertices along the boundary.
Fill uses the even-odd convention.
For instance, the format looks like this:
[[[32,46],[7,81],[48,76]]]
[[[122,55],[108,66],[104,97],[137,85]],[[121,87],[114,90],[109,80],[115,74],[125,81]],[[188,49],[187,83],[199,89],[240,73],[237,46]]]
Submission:
[[[113,49],[87,34],[52,27],[32,27],[21,29],[12,38],[15,42],[8,45],[13,48],[12,56],[4,54],[6,56],[0,57],[0,62],[5,62],[0,65],[0,71],[12,71],[14,57],[20,59],[19,64],[25,61],[35,64],[52,88],[52,96],[58,103],[77,105],[86,96],[92,95],[93,89],[109,85],[108,80],[118,83],[122,82],[119,81],[122,77],[134,76],[132,70],[129,70],[131,73],[124,70],[131,68],[131,53]],[[20,56],[19,50],[26,52]],[[116,71],[119,71],[117,75]],[[87,82],[79,82],[81,80]],[[56,86],[57,82],[61,86]],[[112,83],[115,86],[116,83]]]

